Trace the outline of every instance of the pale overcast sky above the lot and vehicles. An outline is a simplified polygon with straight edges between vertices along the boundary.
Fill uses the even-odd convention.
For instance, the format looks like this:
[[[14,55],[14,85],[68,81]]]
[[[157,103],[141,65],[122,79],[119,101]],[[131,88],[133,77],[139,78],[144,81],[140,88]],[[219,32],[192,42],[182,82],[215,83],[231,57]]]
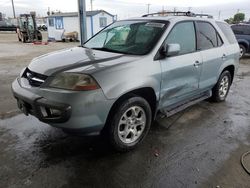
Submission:
[[[77,11],[77,0],[14,0],[14,4],[17,15],[36,11],[37,14],[46,16],[48,7],[62,12]],[[195,13],[212,14],[216,19],[226,19],[239,11],[246,14],[247,20],[250,18],[250,0],[93,0],[94,10],[106,10],[118,15],[118,19],[147,13],[147,4],[151,4],[150,12],[176,8],[179,11],[191,10]],[[86,6],[90,10],[90,0],[86,0]],[[11,0],[0,0],[0,12],[13,16]]]

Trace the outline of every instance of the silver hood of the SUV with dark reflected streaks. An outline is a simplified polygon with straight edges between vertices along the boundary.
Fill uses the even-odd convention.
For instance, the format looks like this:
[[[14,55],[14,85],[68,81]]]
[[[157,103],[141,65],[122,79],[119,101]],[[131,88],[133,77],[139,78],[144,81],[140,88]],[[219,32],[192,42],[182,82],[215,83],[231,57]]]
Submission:
[[[28,68],[33,72],[47,76],[53,76],[59,72],[69,70],[91,74],[103,68],[117,66],[138,58],[138,56],[134,55],[74,47],[34,58]]]

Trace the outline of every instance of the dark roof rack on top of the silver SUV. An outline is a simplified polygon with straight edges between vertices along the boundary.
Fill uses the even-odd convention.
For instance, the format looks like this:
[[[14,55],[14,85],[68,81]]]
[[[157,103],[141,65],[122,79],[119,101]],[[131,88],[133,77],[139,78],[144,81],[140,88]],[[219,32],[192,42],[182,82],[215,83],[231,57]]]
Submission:
[[[213,18],[212,15],[209,14],[195,14],[193,12],[156,12],[156,13],[150,13],[145,14],[142,17],[149,17],[149,16],[189,16],[189,17],[207,17],[207,18]]]

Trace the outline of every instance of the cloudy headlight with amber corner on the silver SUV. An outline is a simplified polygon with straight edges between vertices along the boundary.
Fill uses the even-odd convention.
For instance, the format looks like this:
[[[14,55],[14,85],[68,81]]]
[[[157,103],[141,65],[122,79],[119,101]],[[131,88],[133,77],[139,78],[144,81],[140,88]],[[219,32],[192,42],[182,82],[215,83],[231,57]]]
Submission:
[[[88,91],[100,88],[92,77],[78,73],[60,73],[50,82],[49,87],[77,91]]]

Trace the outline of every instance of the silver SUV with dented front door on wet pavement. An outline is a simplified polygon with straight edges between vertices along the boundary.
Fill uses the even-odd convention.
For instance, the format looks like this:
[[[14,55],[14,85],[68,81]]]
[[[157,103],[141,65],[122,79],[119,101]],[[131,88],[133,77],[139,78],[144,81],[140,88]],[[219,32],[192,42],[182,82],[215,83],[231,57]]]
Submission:
[[[146,15],[117,21],[84,46],[33,59],[12,90],[24,114],[66,132],[105,132],[124,151],[145,138],[156,114],[224,101],[239,52],[225,22]]]

